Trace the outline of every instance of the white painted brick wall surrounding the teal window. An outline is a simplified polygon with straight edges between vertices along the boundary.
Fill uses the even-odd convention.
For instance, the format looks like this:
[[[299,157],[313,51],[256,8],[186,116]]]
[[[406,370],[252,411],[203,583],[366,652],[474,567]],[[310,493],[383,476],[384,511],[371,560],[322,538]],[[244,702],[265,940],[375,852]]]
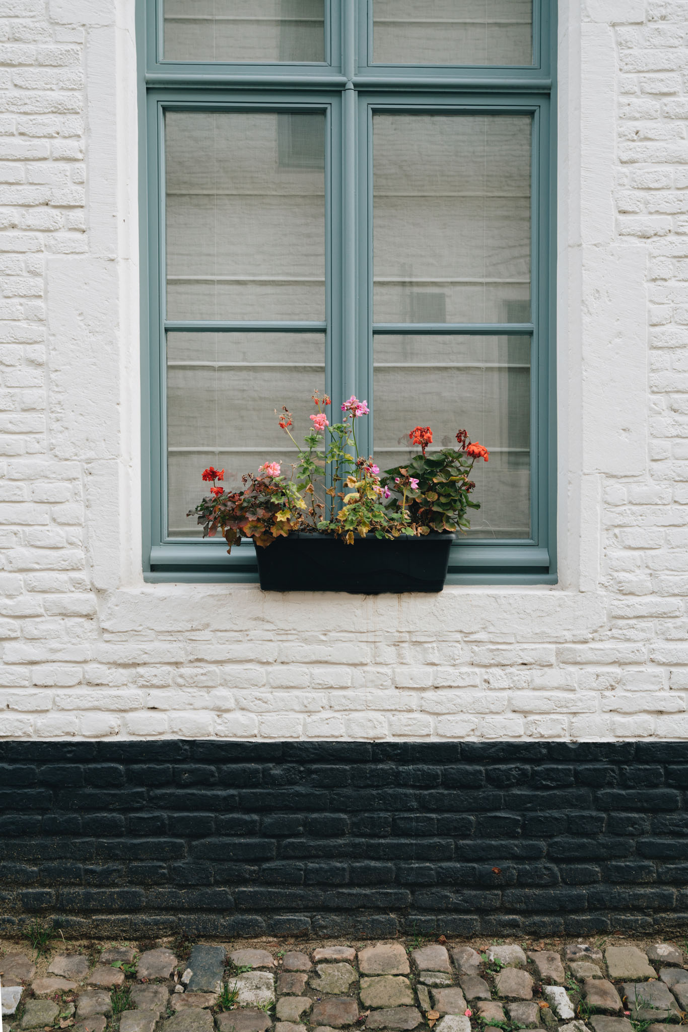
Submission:
[[[0,0],[0,736],[688,738],[688,3],[560,7],[560,583],[316,599],[143,584],[133,0]]]

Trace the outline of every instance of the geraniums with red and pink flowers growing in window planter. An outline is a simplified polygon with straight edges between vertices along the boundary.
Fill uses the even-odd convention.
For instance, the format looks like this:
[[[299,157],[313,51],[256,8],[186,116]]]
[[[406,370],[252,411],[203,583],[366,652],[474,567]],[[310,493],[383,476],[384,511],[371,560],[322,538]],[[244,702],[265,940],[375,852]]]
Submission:
[[[231,550],[241,538],[264,548],[295,530],[333,535],[353,544],[357,536],[420,537],[469,525],[467,509],[480,508],[469,497],[476,487],[469,475],[476,459],[487,461],[489,455],[465,430],[457,433],[458,449],[427,453],[432,430],[414,427],[409,443],[419,445],[421,453],[381,477],[372,458],[358,451],[356,421],[369,414],[367,402],[352,395],[341,406],[341,421],[331,424],[326,412],[330,398],[316,392],[313,399],[318,411],[309,417],[303,446],[292,434],[289,410],[275,413],[298,452],[289,475],[281,463],[265,462],[258,474],[241,478],[242,490],[226,491],[221,486],[224,470],[203,471],[203,480],[212,483],[210,493],[189,513],[203,526],[203,537],[220,530]]]

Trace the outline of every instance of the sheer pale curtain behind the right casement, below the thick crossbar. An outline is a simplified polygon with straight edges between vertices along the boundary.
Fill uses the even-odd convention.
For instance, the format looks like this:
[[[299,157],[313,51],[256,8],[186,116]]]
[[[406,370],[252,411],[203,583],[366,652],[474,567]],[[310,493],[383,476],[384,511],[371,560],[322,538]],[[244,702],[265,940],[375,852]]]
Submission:
[[[526,116],[373,118],[375,323],[529,321],[530,137]],[[472,537],[530,533],[530,338],[376,333],[374,441],[382,469],[460,428],[480,463]]]

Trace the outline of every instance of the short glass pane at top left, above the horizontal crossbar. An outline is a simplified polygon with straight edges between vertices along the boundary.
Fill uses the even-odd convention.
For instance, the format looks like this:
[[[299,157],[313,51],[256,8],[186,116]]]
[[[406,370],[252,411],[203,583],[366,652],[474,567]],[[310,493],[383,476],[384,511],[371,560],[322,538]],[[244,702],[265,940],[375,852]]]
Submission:
[[[324,0],[165,0],[167,61],[325,61]]]

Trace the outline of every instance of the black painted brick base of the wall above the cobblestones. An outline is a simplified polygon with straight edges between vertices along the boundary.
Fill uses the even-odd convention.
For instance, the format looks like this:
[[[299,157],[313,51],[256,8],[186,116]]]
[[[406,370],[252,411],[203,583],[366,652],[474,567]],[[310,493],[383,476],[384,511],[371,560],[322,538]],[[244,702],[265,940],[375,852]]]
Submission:
[[[0,934],[688,927],[688,743],[0,743]]]

